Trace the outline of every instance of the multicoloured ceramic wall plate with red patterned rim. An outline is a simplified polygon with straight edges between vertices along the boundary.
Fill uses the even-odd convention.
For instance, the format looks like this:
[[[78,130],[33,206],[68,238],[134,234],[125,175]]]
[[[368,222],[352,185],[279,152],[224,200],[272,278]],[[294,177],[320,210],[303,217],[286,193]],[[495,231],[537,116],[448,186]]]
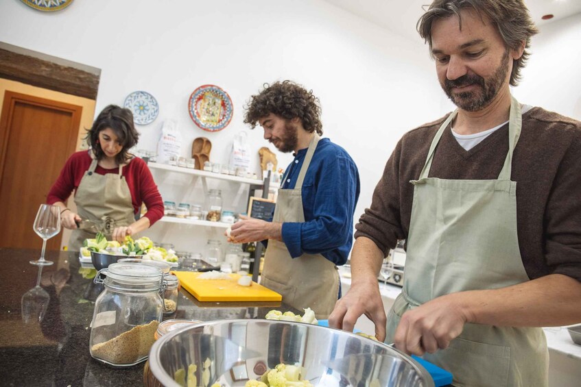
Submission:
[[[195,125],[208,132],[218,132],[230,123],[233,105],[227,92],[218,86],[204,85],[191,93],[188,110]]]

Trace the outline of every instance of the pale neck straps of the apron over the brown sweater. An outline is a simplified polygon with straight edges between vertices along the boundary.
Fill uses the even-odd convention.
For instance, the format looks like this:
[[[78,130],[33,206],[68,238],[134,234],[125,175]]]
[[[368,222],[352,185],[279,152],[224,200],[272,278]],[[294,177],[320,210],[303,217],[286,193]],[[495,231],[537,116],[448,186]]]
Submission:
[[[436,150],[436,146],[438,142],[440,142],[440,138],[442,138],[442,134],[444,134],[444,130],[451,125],[452,120],[458,114],[458,109],[454,110],[446,121],[442,123],[438,132],[436,132],[436,136],[434,136],[434,140],[431,141],[431,145],[429,147],[428,155],[426,162],[424,164],[424,168],[420,173],[420,179],[426,178],[429,175],[429,170],[431,168],[431,161],[434,159],[434,151]],[[517,142],[519,141],[519,136],[521,136],[521,129],[523,127],[523,117],[521,114],[521,104],[517,99],[512,97],[510,101],[510,118],[508,119],[508,154],[506,155],[506,159],[504,160],[504,165],[502,167],[502,171],[500,172],[498,179],[499,180],[510,180],[510,173],[511,173],[511,166],[512,166],[512,153],[514,151],[514,147],[517,146]]]

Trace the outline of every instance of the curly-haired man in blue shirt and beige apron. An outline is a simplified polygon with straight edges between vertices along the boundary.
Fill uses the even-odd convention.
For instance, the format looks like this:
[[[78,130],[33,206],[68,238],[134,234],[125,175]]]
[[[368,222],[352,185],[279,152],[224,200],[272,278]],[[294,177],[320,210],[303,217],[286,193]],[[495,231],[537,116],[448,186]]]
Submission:
[[[294,152],[278,190],[272,222],[244,219],[233,242],[268,240],[261,284],[301,310],[327,319],[340,297],[337,265],[353,243],[359,173],[348,153],[320,138],[321,108],[313,93],[294,82],[265,85],[253,95],[245,122],[260,125],[281,152]]]

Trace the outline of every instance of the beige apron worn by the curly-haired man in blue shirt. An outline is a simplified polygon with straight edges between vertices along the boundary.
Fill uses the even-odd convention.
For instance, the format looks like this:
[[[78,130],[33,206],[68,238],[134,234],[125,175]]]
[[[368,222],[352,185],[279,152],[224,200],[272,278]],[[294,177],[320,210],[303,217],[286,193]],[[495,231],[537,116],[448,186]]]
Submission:
[[[294,189],[279,189],[274,222],[305,222],[301,189],[320,137],[309,144]],[[286,245],[269,240],[264,255],[261,284],[283,295],[283,302],[293,308],[311,308],[317,319],[327,319],[339,295],[337,266],[321,254],[304,253],[292,258]]]

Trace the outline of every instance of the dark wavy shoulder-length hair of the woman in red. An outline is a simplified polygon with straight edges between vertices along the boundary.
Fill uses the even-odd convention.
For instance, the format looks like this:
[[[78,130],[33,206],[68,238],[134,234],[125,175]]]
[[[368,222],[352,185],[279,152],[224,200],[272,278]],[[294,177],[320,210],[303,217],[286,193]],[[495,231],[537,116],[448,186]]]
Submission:
[[[133,113],[131,110],[120,108],[117,105],[108,105],[99,113],[85,137],[97,160],[105,157],[105,153],[99,145],[99,132],[108,127],[115,132],[115,136],[119,138],[121,147],[123,147],[119,154],[115,156],[115,161],[119,165],[124,164],[132,158],[129,149],[137,145],[137,140],[139,140],[139,133],[133,125]]]

